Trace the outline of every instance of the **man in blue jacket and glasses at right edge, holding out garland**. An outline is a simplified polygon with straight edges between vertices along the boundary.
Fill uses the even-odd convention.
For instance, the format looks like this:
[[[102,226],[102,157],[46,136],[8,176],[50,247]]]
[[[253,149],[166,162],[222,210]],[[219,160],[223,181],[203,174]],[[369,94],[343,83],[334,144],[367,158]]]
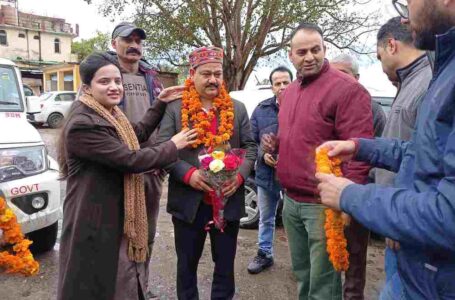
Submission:
[[[455,295],[455,1],[395,3],[409,18],[414,44],[436,49],[434,77],[411,140],[330,142],[342,154],[398,172],[393,187],[353,184],[318,174],[322,202],[351,214],[400,243],[396,251],[404,295],[383,299],[453,299]],[[395,277],[394,277],[395,278]],[[387,286],[386,286],[387,287]],[[391,298],[390,298],[391,297]]]

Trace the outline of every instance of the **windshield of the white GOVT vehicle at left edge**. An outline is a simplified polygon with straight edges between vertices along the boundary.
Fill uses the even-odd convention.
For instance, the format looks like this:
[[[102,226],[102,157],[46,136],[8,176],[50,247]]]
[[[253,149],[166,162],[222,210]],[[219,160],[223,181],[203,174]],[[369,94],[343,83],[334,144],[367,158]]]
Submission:
[[[23,111],[18,83],[12,67],[0,66],[0,111]]]

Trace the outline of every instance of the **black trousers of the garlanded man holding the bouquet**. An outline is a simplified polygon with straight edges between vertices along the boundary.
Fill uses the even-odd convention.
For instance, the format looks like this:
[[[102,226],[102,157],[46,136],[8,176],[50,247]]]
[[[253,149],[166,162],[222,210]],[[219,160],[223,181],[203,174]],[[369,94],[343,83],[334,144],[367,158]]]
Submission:
[[[197,267],[207,236],[206,224],[212,219],[212,207],[202,203],[195,221],[190,224],[172,217],[177,252],[177,297],[179,300],[199,299]],[[234,259],[237,250],[239,222],[228,222],[224,233],[209,231],[213,271],[211,299],[232,299],[235,292]]]

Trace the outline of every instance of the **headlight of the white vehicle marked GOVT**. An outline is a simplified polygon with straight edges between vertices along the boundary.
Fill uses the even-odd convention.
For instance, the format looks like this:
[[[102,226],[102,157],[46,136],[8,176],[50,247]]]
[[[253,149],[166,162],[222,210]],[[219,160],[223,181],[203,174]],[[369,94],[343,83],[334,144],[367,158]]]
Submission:
[[[0,149],[0,182],[39,174],[47,168],[44,146]]]

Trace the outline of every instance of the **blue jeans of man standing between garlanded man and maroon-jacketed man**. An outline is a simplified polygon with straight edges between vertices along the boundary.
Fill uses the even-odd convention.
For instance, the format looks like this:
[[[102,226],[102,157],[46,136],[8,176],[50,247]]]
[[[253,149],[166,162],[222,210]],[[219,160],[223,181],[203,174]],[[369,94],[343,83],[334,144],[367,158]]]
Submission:
[[[258,186],[259,204],[259,251],[273,257],[273,238],[275,236],[275,216],[280,202],[280,190],[269,191]]]

